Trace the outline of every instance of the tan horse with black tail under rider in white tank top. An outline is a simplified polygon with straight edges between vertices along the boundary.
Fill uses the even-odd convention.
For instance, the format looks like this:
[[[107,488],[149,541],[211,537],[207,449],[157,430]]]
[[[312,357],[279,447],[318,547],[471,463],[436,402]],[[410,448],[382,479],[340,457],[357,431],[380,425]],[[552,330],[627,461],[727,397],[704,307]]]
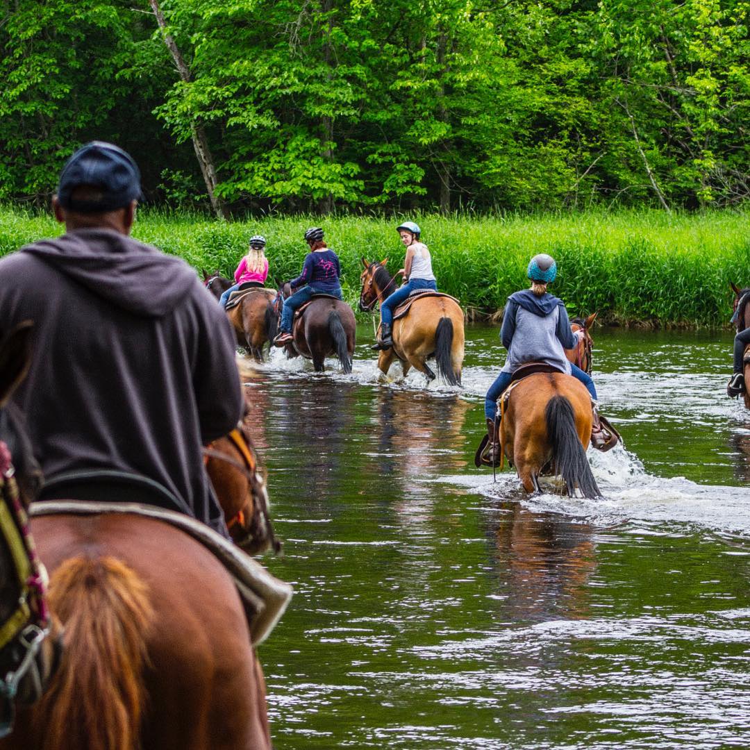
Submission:
[[[395,279],[386,269],[388,259],[370,263],[362,258],[362,290],[359,309],[371,311],[379,302],[395,291]],[[460,386],[463,366],[463,311],[458,302],[449,296],[425,296],[412,302],[405,317],[393,321],[393,346],[380,352],[377,366],[387,375],[398,359],[404,376],[411,368],[419,370],[428,381],[435,373],[427,364],[435,358],[440,377],[451,386]]]

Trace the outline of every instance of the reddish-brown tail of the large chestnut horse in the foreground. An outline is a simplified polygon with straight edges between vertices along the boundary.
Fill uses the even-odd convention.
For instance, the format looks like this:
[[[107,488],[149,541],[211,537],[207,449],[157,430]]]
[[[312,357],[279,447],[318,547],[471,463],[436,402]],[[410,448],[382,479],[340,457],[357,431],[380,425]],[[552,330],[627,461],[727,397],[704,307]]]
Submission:
[[[60,669],[40,706],[45,750],[134,750],[145,705],[148,587],[114,557],[66,560],[49,584],[65,628]]]

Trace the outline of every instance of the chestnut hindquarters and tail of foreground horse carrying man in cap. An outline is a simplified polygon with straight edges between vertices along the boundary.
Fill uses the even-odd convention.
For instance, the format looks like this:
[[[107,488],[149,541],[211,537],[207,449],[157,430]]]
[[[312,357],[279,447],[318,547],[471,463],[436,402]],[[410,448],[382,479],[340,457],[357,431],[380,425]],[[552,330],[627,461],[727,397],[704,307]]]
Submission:
[[[1,750],[270,750],[245,610],[206,547],[130,512],[41,515],[31,532],[62,656]]]

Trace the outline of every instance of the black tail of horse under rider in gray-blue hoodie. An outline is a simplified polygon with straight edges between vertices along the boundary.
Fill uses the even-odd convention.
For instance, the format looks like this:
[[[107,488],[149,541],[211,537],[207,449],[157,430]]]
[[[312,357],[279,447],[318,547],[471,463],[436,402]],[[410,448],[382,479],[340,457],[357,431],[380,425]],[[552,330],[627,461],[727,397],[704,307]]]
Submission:
[[[601,496],[586,452],[578,440],[570,401],[565,396],[550,398],[544,410],[544,419],[552,443],[552,469],[562,476],[568,487],[568,495],[573,496],[577,486],[584,497]]]

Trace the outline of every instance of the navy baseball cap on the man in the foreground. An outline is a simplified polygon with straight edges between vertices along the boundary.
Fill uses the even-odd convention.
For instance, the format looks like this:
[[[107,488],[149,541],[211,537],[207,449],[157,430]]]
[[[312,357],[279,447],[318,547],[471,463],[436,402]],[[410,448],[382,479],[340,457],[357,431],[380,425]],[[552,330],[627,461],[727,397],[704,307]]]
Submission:
[[[72,193],[86,185],[101,190],[95,199],[74,200]],[[92,141],[81,146],[60,172],[57,199],[63,208],[82,214],[122,208],[142,197],[138,165],[118,146]]]

